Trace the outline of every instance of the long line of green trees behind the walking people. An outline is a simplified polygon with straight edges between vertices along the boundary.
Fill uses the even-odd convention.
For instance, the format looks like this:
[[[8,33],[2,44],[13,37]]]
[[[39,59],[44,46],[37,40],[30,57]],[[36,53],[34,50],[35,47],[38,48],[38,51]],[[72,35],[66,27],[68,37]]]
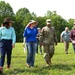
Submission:
[[[17,42],[23,41],[23,31],[28,22],[32,19],[38,21],[38,27],[40,28],[46,25],[46,19],[51,19],[52,26],[54,26],[56,29],[58,41],[60,40],[60,34],[65,29],[65,27],[67,26],[71,30],[74,23],[73,18],[70,18],[67,21],[62,16],[58,15],[56,11],[50,10],[48,10],[43,17],[37,16],[34,12],[31,13],[25,7],[20,8],[15,14],[13,8],[10,6],[9,3],[6,3],[5,1],[0,1],[0,25],[3,23],[5,17],[11,17],[12,20],[15,21],[13,27],[16,31]]]

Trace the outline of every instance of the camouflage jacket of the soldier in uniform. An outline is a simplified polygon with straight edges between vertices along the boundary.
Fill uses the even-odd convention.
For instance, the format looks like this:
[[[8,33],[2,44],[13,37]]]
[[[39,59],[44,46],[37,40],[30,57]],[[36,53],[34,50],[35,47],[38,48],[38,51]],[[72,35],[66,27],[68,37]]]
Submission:
[[[54,45],[54,42],[57,43],[57,37],[55,34],[55,29],[54,27],[43,27],[40,35],[40,42],[45,45],[45,44],[52,44]]]

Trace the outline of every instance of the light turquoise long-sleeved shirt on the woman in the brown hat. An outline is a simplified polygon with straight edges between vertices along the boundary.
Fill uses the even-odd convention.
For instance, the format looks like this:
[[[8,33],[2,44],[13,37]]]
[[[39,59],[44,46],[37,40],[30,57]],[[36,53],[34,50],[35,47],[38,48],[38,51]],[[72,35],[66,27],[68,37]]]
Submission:
[[[16,42],[16,34],[13,27],[6,28],[6,27],[0,27],[0,40],[6,39],[6,40],[12,40],[12,43],[15,44]]]

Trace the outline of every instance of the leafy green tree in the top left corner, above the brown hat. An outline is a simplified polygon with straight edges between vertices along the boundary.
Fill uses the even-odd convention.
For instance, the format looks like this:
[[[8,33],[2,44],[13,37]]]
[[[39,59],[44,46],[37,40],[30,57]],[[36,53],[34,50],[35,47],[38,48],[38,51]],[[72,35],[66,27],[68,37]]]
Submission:
[[[5,3],[4,1],[0,1],[0,25],[5,17],[11,17],[13,19],[14,16],[15,14],[10,4]]]

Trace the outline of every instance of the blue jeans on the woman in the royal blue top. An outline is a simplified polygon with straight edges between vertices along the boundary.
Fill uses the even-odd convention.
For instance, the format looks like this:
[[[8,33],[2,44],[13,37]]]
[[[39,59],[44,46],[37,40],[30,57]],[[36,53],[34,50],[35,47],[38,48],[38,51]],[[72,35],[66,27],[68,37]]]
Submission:
[[[27,64],[30,66],[34,66],[34,61],[35,61],[35,51],[37,48],[37,43],[36,42],[30,42],[26,43],[27,45]]]

